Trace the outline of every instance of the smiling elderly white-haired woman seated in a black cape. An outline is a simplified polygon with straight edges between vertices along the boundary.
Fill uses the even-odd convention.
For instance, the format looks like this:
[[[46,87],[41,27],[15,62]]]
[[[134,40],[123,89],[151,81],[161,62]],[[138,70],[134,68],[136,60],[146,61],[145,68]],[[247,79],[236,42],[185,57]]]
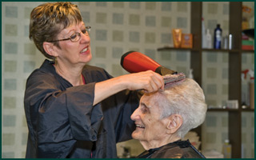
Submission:
[[[132,137],[146,150],[138,158],[204,158],[181,138],[204,122],[206,110],[202,89],[190,78],[166,90],[144,94],[131,115],[136,125]]]

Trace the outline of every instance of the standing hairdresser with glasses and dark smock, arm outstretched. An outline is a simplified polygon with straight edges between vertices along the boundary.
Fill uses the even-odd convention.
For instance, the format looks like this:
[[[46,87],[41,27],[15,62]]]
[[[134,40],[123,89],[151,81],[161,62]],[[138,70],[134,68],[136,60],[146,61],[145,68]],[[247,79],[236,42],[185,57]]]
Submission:
[[[116,158],[116,143],[134,130],[138,95],[129,90],[163,89],[162,76],[151,71],[112,78],[86,65],[89,29],[70,2],[42,4],[30,14],[30,39],[51,60],[26,82],[26,158]]]

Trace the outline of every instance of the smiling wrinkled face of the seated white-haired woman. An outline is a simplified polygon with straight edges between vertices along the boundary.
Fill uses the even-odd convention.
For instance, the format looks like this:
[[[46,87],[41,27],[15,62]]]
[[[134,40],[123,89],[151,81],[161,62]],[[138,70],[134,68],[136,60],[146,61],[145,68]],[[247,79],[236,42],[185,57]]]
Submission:
[[[166,136],[166,124],[164,119],[160,119],[161,109],[158,107],[160,99],[156,94],[144,94],[138,109],[130,116],[136,125],[132,137],[138,139],[142,146],[143,143],[161,142]]]

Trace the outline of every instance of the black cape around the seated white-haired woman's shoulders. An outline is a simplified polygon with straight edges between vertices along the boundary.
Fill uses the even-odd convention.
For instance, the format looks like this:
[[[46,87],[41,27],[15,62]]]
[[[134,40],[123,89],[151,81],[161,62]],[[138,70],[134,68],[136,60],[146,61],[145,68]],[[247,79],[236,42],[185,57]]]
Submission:
[[[137,158],[205,158],[205,156],[195,149],[189,140],[179,140],[159,148],[146,150]]]

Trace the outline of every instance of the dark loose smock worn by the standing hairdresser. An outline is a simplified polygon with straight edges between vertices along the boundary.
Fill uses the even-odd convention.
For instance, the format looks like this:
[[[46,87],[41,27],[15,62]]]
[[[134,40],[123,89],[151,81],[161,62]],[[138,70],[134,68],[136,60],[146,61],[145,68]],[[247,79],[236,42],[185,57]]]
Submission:
[[[26,82],[26,158],[117,158],[116,143],[135,129],[130,115],[138,107],[137,92],[123,90],[93,106],[95,82],[110,74],[86,65],[86,85],[72,86],[53,64],[45,60]]]

